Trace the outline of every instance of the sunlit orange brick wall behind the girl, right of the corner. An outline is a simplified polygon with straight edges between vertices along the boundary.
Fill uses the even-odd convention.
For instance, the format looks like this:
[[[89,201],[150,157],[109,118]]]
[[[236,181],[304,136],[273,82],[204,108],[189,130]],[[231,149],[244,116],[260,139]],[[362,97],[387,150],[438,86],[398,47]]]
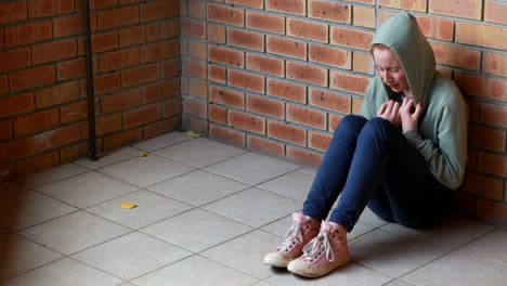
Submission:
[[[183,128],[318,166],[361,109],[369,42],[410,11],[439,70],[470,108],[459,211],[507,223],[507,2],[497,0],[180,0]]]

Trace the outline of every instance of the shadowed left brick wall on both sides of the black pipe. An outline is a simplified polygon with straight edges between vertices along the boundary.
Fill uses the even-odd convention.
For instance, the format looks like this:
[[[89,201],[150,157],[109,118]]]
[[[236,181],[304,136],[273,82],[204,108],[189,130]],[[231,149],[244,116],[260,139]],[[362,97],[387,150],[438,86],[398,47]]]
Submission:
[[[181,126],[177,0],[90,0],[99,152]],[[0,181],[88,154],[82,0],[0,2]]]

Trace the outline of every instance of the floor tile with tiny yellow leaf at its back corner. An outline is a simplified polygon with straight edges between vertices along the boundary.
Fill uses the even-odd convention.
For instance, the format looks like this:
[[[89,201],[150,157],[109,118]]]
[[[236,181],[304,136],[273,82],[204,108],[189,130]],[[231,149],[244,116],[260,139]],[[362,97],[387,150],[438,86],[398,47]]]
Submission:
[[[100,172],[141,187],[192,171],[194,168],[150,154],[99,169]]]

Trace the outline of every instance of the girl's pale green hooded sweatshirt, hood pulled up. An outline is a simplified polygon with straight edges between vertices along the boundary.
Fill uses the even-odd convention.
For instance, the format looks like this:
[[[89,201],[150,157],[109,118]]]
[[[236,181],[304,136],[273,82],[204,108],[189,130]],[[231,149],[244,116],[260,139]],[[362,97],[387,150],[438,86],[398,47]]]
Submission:
[[[376,31],[372,46],[381,43],[398,56],[414,96],[421,101],[418,127],[404,133],[426,159],[431,173],[456,190],[463,181],[467,157],[468,107],[454,82],[435,70],[431,46],[416,20],[404,12],[388,18]],[[394,92],[376,76],[366,90],[361,115],[377,116]],[[400,170],[403,171],[403,170]]]

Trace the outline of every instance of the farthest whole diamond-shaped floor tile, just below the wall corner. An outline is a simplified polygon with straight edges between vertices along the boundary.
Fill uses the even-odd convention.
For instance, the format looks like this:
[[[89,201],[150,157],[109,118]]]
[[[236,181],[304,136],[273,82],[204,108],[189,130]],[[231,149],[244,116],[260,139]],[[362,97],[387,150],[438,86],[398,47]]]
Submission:
[[[245,153],[246,152],[240,148],[232,147],[205,138],[197,138],[192,141],[183,142],[155,152],[157,155],[181,161],[196,168],[203,168]]]

